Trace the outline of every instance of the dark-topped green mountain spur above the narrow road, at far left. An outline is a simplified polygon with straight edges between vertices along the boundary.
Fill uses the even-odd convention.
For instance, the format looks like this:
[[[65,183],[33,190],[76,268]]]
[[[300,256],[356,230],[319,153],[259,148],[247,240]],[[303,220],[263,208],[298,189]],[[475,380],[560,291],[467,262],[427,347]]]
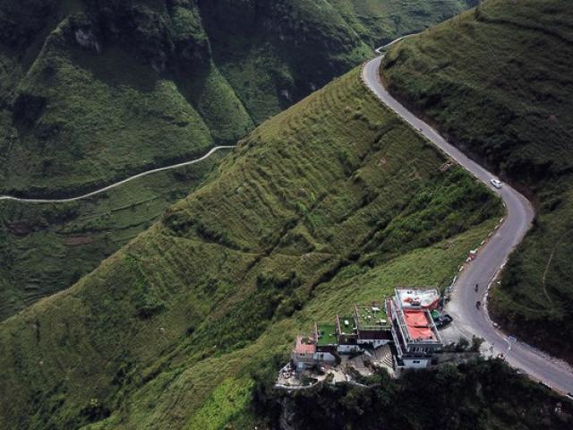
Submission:
[[[0,4],[0,191],[77,194],[252,129],[196,7],[135,3]]]

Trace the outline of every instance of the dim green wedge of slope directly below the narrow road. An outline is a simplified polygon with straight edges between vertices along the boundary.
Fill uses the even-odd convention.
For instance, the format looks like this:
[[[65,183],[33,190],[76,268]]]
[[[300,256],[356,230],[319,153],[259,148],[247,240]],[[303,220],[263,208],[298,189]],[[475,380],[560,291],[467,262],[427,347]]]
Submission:
[[[0,320],[95,269],[201,185],[225,153],[78,202],[0,202]]]

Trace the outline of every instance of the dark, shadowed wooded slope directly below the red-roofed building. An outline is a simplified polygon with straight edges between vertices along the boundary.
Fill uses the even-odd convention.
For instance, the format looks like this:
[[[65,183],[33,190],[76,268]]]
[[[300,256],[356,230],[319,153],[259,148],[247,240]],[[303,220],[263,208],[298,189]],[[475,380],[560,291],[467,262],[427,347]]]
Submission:
[[[500,360],[409,372],[399,380],[376,374],[368,383],[371,388],[265,391],[259,408],[271,422],[296,430],[568,430],[573,425],[573,403]]]

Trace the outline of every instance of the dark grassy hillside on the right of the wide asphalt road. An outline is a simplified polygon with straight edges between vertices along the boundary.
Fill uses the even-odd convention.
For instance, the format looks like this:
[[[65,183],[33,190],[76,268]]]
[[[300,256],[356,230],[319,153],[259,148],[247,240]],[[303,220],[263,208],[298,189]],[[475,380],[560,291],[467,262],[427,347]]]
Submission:
[[[389,90],[462,149],[526,188],[538,217],[493,311],[511,331],[573,360],[573,9],[490,0],[393,48]]]

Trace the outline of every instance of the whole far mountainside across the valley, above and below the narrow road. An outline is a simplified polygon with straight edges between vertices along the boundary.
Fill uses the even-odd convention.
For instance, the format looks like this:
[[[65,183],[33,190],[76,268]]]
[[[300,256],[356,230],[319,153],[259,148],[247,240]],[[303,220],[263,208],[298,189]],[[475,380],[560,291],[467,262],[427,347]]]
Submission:
[[[75,195],[234,144],[369,44],[464,4],[0,0],[0,193]],[[69,287],[210,166],[77,205],[0,202],[0,319]]]

